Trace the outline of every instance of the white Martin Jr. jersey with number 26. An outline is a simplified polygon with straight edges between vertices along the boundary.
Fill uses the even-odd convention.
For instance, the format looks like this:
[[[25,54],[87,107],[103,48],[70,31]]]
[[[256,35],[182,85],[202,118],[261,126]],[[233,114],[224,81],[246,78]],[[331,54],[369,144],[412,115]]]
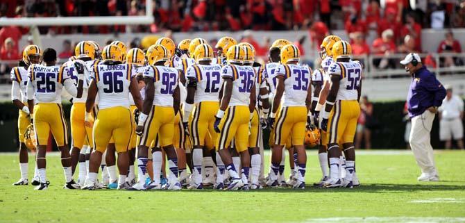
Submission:
[[[61,104],[63,84],[70,78],[68,74],[67,67],[64,65],[46,66],[34,64],[29,66],[28,79],[31,81],[34,96],[28,95],[28,99],[34,99],[35,104]]]

